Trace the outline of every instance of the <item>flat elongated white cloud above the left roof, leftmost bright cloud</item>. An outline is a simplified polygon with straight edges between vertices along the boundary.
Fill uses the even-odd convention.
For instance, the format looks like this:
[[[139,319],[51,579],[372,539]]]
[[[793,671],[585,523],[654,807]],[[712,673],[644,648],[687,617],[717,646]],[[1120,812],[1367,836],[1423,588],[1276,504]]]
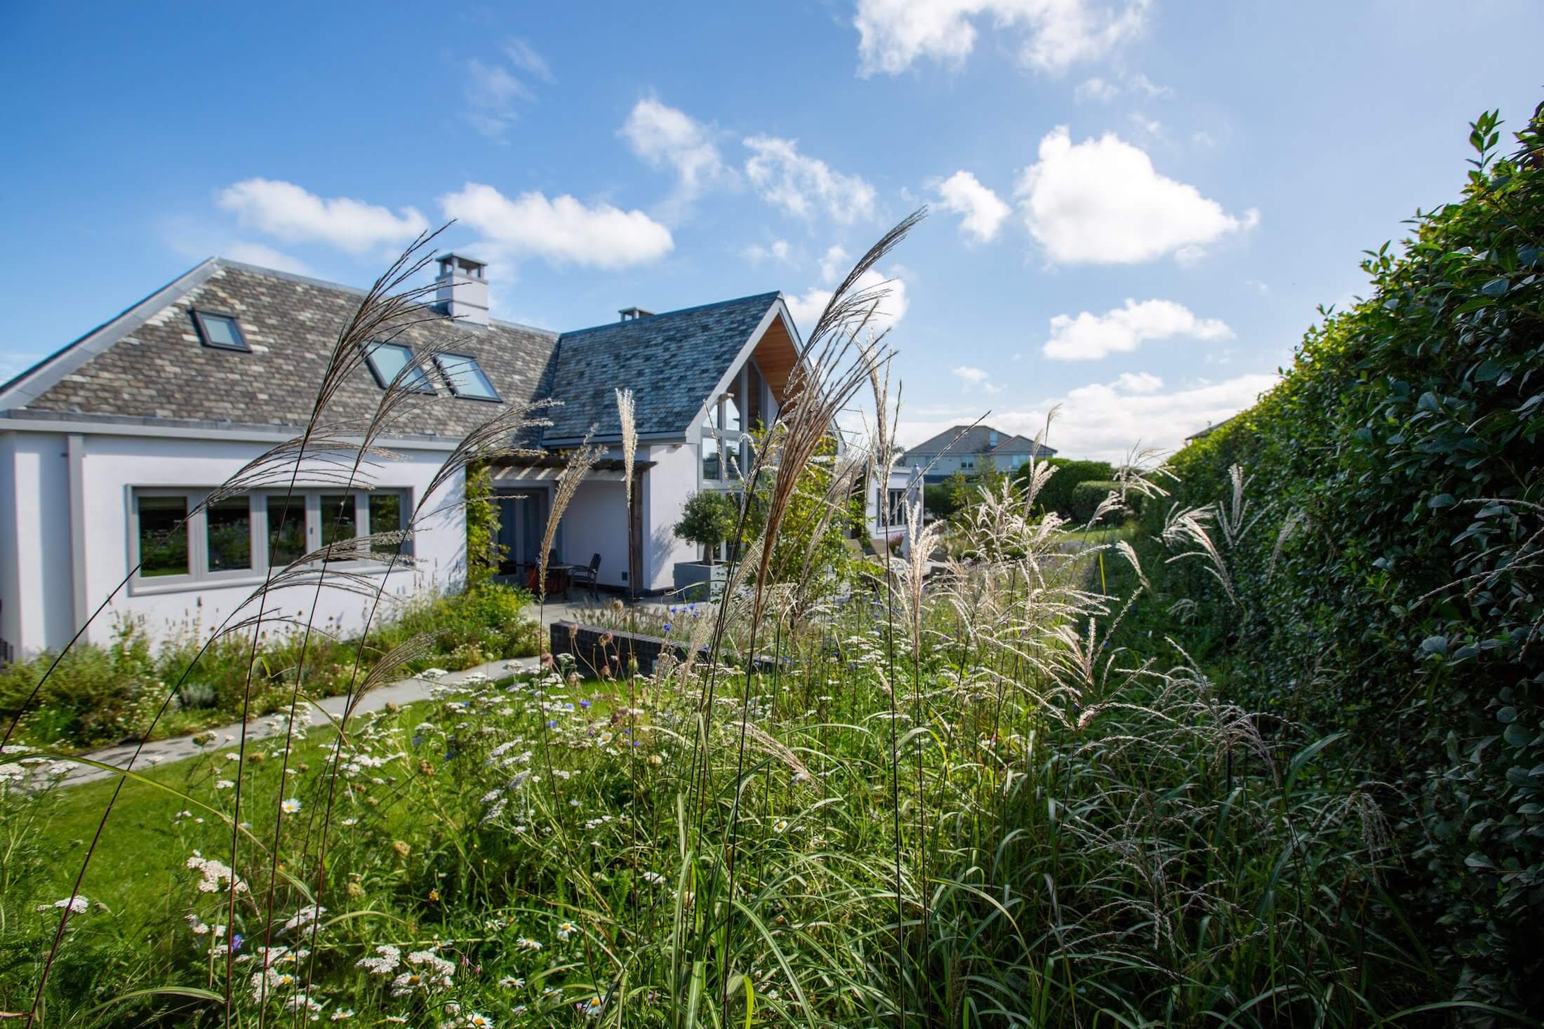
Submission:
[[[324,242],[349,253],[406,242],[429,227],[412,207],[392,214],[377,204],[324,199],[275,179],[244,179],[221,190],[215,202],[242,225],[286,242]]]

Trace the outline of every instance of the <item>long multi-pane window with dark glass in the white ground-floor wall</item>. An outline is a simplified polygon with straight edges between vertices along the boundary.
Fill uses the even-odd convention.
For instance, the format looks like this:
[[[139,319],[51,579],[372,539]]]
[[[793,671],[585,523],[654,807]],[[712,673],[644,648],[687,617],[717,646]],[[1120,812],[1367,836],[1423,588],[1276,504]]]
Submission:
[[[259,580],[327,543],[408,528],[406,489],[253,492],[208,501],[210,488],[133,488],[128,560],[136,592]],[[190,517],[191,512],[191,517]],[[375,543],[371,566],[412,554],[412,538]]]

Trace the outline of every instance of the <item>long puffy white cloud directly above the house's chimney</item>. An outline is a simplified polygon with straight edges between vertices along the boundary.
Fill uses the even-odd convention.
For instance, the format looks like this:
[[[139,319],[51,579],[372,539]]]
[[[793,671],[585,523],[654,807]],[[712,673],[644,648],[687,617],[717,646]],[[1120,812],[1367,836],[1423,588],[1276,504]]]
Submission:
[[[491,185],[468,182],[440,197],[446,218],[483,234],[485,245],[510,258],[550,264],[624,268],[670,253],[670,230],[642,211],[587,205],[571,196],[547,199],[531,191],[510,199]]]

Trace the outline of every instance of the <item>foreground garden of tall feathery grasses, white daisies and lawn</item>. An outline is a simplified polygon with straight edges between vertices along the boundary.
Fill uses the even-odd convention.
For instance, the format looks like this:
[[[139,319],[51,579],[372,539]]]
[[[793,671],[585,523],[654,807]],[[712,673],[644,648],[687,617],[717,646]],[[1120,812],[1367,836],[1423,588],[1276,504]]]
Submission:
[[[360,714],[372,673],[335,720],[306,716],[296,688],[276,736],[204,739],[191,761],[85,787],[8,748],[0,1010],[672,1029],[1400,1014],[1428,972],[1383,932],[1399,924],[1382,890],[1397,861],[1371,791],[1320,774],[1336,739],[1263,734],[1183,653],[1107,643],[1143,603],[1122,541],[1031,517],[1033,497],[1005,486],[948,540],[913,511],[888,565],[774,574],[777,526],[860,386],[880,438],[848,461],[888,471],[888,353],[868,332],[883,290],[857,282],[911,224],[811,335],[746,469],[772,529],[723,602],[669,612],[684,660],[602,660],[588,679],[559,656],[457,685],[431,670],[431,699]],[[414,310],[355,321],[378,333]],[[537,413],[500,415],[454,460],[497,454]],[[581,450],[574,481],[593,458]],[[338,474],[355,481],[372,460],[340,457]],[[1121,483],[1160,491],[1135,466]],[[1227,531],[1243,491],[1218,509]],[[1175,538],[1226,575],[1217,518],[1192,514]],[[307,558],[318,589],[338,557]],[[1101,560],[1129,568],[1122,595],[1093,574]],[[241,619],[216,633],[262,622]],[[613,628],[641,625],[619,611]],[[400,649],[397,665],[425,654]]]

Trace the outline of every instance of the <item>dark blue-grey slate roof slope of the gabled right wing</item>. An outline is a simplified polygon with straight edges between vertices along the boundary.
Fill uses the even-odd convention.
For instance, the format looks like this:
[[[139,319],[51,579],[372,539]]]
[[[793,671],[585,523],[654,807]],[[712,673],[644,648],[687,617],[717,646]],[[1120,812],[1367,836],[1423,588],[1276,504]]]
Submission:
[[[639,435],[681,432],[729,370],[780,293],[633,318],[565,332],[557,339],[548,440],[573,440],[596,426],[619,435],[616,389],[631,387]]]

